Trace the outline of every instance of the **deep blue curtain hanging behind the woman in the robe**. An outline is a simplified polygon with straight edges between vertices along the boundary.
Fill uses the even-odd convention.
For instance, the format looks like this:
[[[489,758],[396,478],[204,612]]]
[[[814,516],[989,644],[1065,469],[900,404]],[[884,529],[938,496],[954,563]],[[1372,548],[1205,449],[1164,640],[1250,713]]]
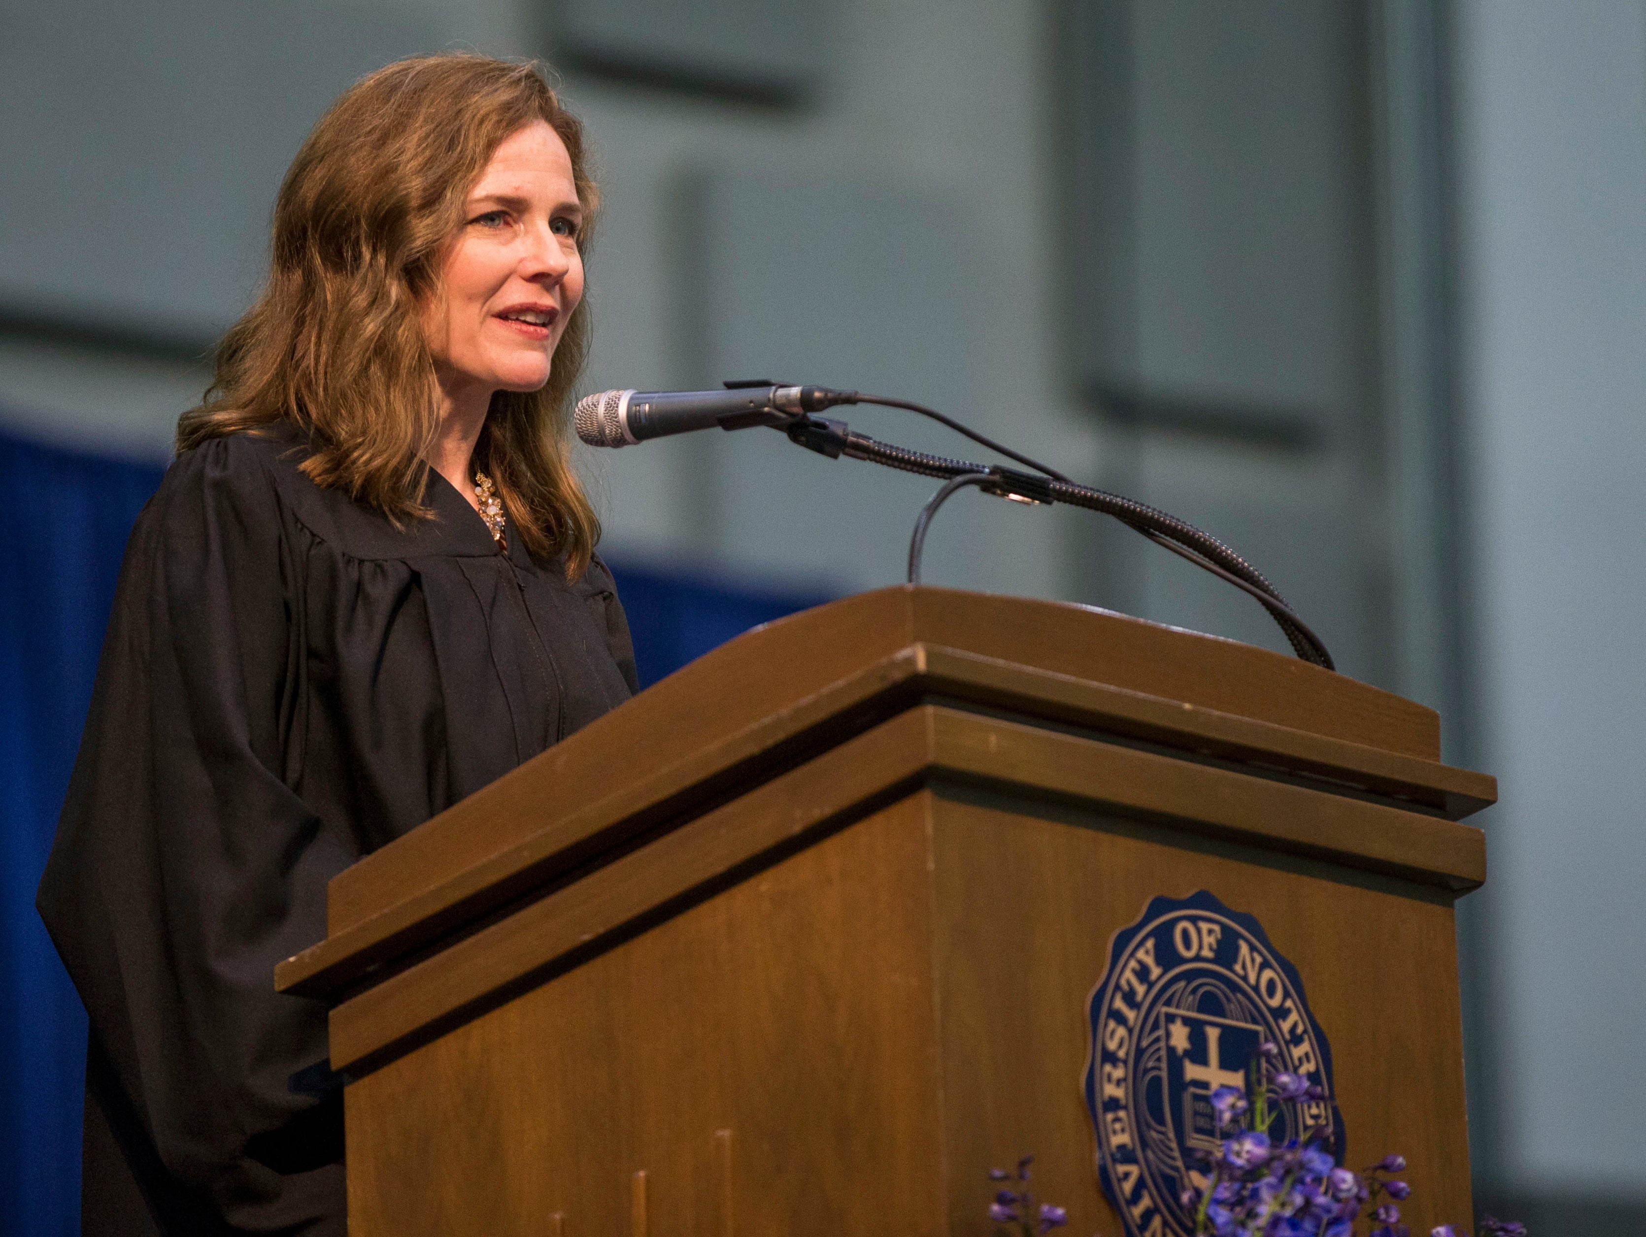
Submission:
[[[163,469],[0,434],[0,1229],[79,1230],[86,1012],[35,913],[132,521]],[[611,563],[642,684],[828,600]]]

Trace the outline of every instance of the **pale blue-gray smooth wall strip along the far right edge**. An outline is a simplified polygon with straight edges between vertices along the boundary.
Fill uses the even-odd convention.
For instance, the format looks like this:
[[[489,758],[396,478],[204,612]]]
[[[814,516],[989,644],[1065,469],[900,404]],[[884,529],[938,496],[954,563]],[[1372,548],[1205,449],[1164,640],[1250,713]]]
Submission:
[[[1458,33],[1481,752],[1503,788],[1483,1133],[1518,1188],[1646,1204],[1646,7],[1470,0]]]

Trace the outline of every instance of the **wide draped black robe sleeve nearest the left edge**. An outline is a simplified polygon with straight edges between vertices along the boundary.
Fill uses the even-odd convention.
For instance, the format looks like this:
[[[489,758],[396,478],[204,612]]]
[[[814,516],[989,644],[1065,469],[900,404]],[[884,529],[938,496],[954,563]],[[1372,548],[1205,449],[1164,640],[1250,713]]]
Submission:
[[[235,1227],[341,1234],[326,1010],[273,990],[352,859],[291,790],[298,571],[258,444],[171,467],[127,546],[40,911],[135,1158]]]

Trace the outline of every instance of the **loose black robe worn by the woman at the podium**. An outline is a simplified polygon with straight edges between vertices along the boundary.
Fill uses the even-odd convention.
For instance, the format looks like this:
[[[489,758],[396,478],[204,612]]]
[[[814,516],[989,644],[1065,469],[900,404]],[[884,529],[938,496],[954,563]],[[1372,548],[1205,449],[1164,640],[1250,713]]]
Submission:
[[[40,913],[91,1015],[87,1234],[344,1230],[326,882],[635,691],[568,584],[430,472],[395,530],[290,436],[181,456],[127,546]]]

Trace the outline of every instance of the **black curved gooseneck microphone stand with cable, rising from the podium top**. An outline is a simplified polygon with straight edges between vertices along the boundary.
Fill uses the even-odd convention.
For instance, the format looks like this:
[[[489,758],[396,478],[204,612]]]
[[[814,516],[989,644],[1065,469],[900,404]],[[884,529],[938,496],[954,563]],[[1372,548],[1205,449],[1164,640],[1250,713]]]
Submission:
[[[894,400],[858,396],[856,401],[884,403],[897,408],[910,408],[912,411],[928,416],[933,415],[925,408]],[[951,423],[948,418],[940,416],[938,419],[981,441],[979,434]],[[1155,544],[1170,549],[1174,554],[1188,559],[1197,568],[1210,571],[1213,576],[1249,594],[1269,612],[1274,622],[1279,623],[1299,658],[1312,665],[1323,666],[1325,669],[1337,669],[1325,642],[1322,642],[1320,637],[1315,635],[1309,625],[1292,612],[1276,587],[1269,584],[1269,581],[1266,581],[1256,568],[1210,533],[1203,533],[1193,525],[1185,523],[1174,515],[1167,515],[1159,508],[1134,502],[1132,498],[1124,498],[1118,493],[1108,493],[1106,490],[1095,490],[1090,485],[1078,485],[1062,474],[1053,474],[1050,469],[1042,469],[1049,475],[1037,477],[1029,472],[1017,472],[999,466],[971,464],[963,459],[930,456],[923,451],[910,451],[909,447],[899,447],[890,442],[879,442],[867,434],[853,431],[844,421],[831,416],[816,416],[815,413],[769,413],[759,421],[751,419],[751,424],[769,424],[772,429],[782,429],[788,436],[790,442],[795,442],[807,451],[815,451],[820,456],[826,456],[828,459],[839,459],[841,456],[846,456],[848,459],[866,459],[890,469],[900,469],[902,472],[914,472],[923,477],[937,477],[943,480],[943,487],[932,495],[930,502],[927,502],[927,505],[920,510],[920,517],[915,520],[915,531],[909,543],[910,584],[920,582],[920,556],[925,548],[925,536],[932,525],[932,517],[937,515],[937,510],[945,502],[948,502],[950,495],[961,489],[976,487],[984,493],[996,495],[997,498],[1009,498],[1021,503],[1068,503],[1072,507],[1085,507],[1086,510],[1114,517],[1123,525],[1142,533]],[[999,449],[1012,459],[1032,464],[1032,461],[1014,451],[1007,452],[1004,447]]]

